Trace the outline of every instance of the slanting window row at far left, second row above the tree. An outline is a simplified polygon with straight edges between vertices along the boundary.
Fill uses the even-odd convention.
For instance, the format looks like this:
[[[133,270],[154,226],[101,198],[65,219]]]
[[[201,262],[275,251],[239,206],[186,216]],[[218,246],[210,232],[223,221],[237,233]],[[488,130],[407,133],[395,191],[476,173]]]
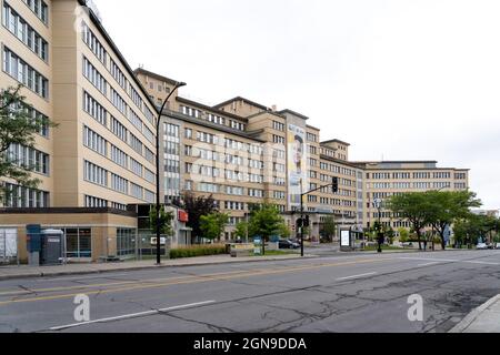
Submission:
[[[42,60],[49,59],[49,43],[28,24],[12,8],[3,2],[3,27],[18,37],[29,49]]]

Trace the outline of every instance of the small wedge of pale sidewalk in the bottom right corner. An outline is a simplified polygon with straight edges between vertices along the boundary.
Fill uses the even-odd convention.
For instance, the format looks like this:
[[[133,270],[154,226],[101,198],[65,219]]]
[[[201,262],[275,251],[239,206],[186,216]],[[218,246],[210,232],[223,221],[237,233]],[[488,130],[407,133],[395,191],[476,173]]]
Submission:
[[[472,311],[449,333],[500,333],[500,295]]]

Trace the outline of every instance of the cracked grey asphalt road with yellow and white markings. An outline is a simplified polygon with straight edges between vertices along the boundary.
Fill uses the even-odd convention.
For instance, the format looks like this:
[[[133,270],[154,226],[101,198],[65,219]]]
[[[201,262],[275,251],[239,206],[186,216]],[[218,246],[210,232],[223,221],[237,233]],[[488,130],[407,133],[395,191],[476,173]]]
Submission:
[[[448,332],[500,293],[500,251],[398,253],[0,282],[0,332]],[[76,325],[74,296],[92,322]],[[423,322],[408,320],[412,294]]]

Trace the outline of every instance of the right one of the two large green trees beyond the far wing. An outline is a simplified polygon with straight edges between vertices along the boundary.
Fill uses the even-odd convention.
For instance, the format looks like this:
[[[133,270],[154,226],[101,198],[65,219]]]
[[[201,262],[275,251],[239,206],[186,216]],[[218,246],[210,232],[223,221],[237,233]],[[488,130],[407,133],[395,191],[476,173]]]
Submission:
[[[452,223],[468,219],[471,207],[481,206],[481,201],[470,191],[428,191],[424,196],[428,200],[428,222],[438,232],[442,250],[446,248],[446,232]]]

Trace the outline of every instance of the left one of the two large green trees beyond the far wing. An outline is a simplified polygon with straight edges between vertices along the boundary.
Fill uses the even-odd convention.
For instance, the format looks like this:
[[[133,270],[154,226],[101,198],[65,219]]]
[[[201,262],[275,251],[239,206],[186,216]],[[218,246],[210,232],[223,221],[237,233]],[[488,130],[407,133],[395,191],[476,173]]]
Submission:
[[[401,219],[408,220],[422,250],[422,230],[429,224],[429,199],[420,192],[408,192],[393,195],[387,201],[389,210]]]

